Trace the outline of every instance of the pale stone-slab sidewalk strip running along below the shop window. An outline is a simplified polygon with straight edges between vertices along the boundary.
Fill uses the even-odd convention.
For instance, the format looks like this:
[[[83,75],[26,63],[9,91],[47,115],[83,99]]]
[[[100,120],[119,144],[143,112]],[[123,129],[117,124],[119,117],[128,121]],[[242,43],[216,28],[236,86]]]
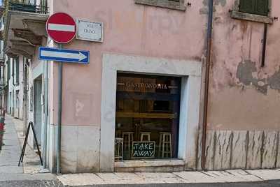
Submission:
[[[221,184],[262,182],[280,179],[280,170],[227,170],[172,173],[91,173],[57,177],[64,186],[107,186],[116,184]]]

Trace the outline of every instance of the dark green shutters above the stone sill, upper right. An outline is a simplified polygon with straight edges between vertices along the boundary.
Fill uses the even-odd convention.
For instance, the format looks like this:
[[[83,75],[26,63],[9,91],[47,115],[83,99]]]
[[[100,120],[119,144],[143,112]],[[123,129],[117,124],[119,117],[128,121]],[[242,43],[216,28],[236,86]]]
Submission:
[[[255,15],[268,15],[268,0],[240,0],[239,11]]]

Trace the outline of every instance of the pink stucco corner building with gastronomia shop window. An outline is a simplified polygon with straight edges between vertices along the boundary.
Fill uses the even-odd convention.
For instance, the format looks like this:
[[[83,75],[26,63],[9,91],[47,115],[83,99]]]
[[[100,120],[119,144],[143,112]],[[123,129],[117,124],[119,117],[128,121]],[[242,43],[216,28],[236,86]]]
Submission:
[[[6,1],[3,39],[52,172],[279,167],[279,1],[34,3]],[[59,64],[38,59],[38,47],[58,47],[45,22],[59,12],[104,24],[102,43],[63,45],[90,63],[63,63],[61,133]]]

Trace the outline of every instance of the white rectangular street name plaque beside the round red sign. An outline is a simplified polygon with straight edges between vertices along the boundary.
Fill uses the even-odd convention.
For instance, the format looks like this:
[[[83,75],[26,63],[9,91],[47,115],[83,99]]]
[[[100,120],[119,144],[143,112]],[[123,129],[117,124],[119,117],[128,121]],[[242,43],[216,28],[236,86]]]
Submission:
[[[77,26],[78,31],[76,38],[78,40],[88,40],[99,43],[103,42],[103,23],[77,20]]]

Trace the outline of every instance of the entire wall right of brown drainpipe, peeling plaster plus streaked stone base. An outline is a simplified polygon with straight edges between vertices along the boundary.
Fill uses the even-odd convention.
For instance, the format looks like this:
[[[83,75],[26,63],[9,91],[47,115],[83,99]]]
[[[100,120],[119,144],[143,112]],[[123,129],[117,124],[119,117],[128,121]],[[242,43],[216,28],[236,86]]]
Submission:
[[[279,167],[280,22],[268,26],[261,68],[264,24],[232,19],[228,10],[235,3],[214,1],[206,167]],[[279,7],[280,1],[272,0],[272,16],[280,15]],[[203,8],[200,12],[207,13]],[[201,143],[198,170],[200,150]]]

